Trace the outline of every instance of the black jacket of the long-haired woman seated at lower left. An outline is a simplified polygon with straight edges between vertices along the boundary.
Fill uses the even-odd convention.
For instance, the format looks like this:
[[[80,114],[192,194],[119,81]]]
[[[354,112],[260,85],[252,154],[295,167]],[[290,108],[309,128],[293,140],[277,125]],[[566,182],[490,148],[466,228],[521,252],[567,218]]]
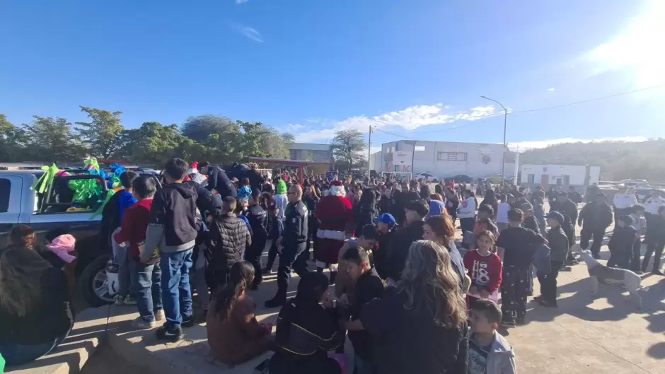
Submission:
[[[0,307],[0,346],[50,343],[71,328],[74,312],[67,276],[62,270],[49,267],[42,273],[40,285],[40,300],[25,316],[18,317]]]

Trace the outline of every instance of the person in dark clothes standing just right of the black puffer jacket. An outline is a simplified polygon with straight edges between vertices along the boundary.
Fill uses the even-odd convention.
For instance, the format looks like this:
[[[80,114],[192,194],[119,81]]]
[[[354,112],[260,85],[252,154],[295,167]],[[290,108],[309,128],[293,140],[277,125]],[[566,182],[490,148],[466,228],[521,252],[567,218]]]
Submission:
[[[253,290],[256,290],[263,280],[261,274],[261,255],[268,239],[268,219],[265,212],[268,208],[267,204],[265,195],[262,195],[259,189],[252,189],[249,199],[249,209],[247,209],[247,213],[245,214],[252,228],[252,244],[245,251],[245,259],[254,265],[255,276],[251,286]]]

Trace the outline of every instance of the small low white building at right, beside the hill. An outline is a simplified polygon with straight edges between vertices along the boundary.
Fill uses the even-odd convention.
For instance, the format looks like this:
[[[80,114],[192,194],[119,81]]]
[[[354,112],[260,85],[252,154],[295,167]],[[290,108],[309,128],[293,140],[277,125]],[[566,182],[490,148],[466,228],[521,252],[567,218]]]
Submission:
[[[589,165],[521,165],[521,185],[529,187],[575,187],[583,191],[585,186],[598,183],[600,166]]]

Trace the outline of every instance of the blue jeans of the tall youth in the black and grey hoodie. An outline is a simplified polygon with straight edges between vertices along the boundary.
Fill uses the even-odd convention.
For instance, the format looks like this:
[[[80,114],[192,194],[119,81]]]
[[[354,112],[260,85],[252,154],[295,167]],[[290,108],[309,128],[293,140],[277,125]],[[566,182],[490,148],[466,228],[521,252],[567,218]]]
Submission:
[[[166,327],[177,329],[183,320],[192,317],[192,288],[190,288],[189,274],[192,267],[192,249],[162,252],[159,264],[162,270],[161,292]]]

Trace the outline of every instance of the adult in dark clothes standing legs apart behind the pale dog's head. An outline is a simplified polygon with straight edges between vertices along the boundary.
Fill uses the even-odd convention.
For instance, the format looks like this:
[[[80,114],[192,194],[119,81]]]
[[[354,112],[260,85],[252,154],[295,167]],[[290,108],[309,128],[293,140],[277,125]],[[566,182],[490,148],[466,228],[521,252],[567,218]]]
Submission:
[[[579,240],[579,247],[586,250],[589,247],[589,240],[594,239],[591,245],[591,255],[595,259],[601,258],[601,245],[605,237],[605,230],[612,224],[612,208],[607,204],[605,194],[596,194],[594,201],[586,204],[579,212],[577,224],[582,226],[582,236]]]

